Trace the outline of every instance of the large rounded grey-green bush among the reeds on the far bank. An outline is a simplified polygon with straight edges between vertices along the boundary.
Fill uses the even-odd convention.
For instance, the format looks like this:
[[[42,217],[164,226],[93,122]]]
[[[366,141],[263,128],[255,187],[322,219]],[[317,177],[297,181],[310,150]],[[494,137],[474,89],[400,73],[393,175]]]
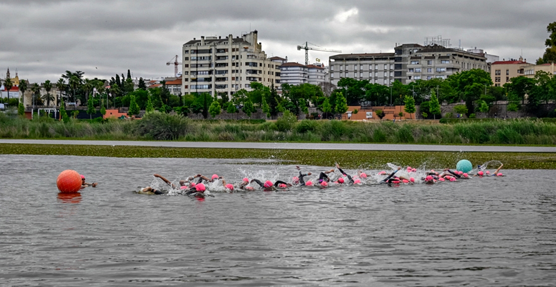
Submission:
[[[182,115],[152,112],[137,121],[136,132],[141,136],[151,136],[155,140],[176,140],[187,134],[190,122],[190,119]]]

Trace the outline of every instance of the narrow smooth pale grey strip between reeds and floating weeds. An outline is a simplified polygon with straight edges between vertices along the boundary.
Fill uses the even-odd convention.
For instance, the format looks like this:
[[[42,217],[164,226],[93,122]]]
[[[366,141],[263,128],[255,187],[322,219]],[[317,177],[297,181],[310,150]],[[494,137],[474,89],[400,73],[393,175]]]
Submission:
[[[149,146],[209,149],[361,150],[361,151],[451,151],[451,152],[556,152],[544,146],[401,145],[394,143],[300,143],[300,142],[191,142],[191,141],[86,141],[7,140],[0,143],[38,145]]]

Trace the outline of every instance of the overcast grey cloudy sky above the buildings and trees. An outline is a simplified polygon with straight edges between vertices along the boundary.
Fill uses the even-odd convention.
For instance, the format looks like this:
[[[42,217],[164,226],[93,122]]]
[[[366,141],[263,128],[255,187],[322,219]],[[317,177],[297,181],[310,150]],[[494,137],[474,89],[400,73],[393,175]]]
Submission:
[[[56,82],[64,71],[87,78],[116,73],[173,75],[183,43],[201,36],[259,31],[269,57],[305,61],[306,41],[342,53],[394,52],[396,43],[451,39],[502,58],[543,55],[555,0],[1,0],[0,77]],[[310,62],[336,53],[309,51]]]

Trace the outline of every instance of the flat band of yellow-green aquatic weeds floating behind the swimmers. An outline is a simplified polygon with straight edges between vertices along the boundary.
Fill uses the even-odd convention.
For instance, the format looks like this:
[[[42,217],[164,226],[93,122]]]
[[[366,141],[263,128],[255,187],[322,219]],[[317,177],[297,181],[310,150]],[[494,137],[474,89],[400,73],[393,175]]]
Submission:
[[[271,164],[334,166],[348,169],[381,169],[387,163],[422,166],[428,169],[454,168],[467,159],[474,164],[490,160],[504,163],[504,169],[556,169],[552,153],[519,152],[441,152],[441,151],[342,151],[342,150],[270,150],[270,149],[199,149],[142,146],[36,145],[0,144],[4,155],[75,155],[105,157],[173,157],[200,159],[269,159]]]

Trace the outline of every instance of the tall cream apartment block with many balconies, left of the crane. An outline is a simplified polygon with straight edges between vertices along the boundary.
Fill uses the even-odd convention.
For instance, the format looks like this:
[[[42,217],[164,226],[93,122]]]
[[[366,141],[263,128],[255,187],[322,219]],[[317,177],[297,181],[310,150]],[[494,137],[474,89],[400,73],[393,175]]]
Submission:
[[[183,44],[182,93],[234,95],[251,82],[276,85],[279,63],[269,60],[257,43],[257,31],[241,37],[204,37]]]

